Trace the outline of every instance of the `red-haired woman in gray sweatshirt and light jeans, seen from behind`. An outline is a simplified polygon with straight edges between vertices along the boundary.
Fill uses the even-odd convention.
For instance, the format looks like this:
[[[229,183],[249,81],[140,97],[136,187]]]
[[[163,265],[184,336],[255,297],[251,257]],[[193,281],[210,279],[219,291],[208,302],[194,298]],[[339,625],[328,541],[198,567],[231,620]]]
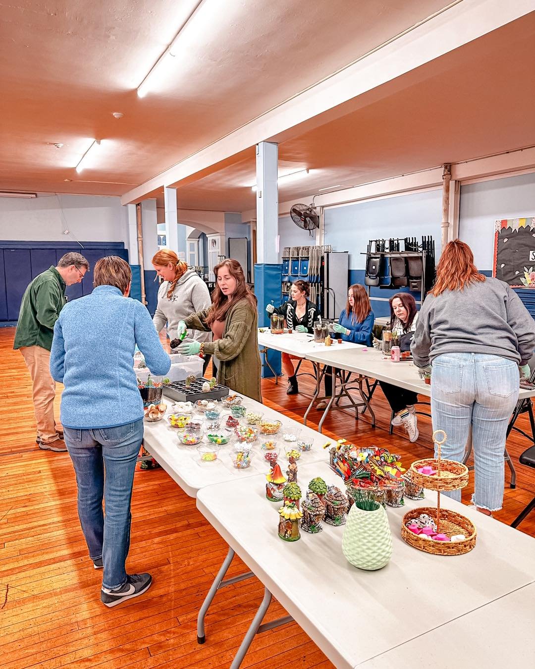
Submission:
[[[518,295],[479,274],[467,244],[449,242],[411,351],[422,372],[432,367],[433,429],[447,434],[442,456],[460,462],[472,428],[472,502],[488,515],[502,508],[508,421],[518,401],[519,367],[530,377],[534,349],[535,321]],[[460,490],[445,494],[461,500]]]

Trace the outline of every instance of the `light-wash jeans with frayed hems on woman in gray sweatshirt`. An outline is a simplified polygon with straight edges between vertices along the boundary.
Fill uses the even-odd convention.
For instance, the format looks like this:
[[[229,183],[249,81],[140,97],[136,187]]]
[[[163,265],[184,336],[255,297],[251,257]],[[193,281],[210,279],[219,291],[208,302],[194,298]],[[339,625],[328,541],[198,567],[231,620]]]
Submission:
[[[508,422],[518,401],[518,365],[498,355],[445,353],[433,360],[432,367],[433,429],[447,434],[441,455],[460,462],[471,426],[472,502],[496,511],[504,499],[504,450]],[[460,490],[445,494],[461,501]]]

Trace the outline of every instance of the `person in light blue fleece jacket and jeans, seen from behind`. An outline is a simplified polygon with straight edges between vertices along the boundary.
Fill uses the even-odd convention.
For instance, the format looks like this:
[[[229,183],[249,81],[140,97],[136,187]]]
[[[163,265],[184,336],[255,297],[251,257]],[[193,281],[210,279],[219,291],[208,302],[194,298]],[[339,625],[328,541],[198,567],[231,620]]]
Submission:
[[[92,294],[62,309],[50,354],[51,375],[65,385],[61,416],[76,472],[78,516],[94,567],[104,568],[100,599],[108,607],[141,595],[152,582],[148,573],[125,569],[143,438],[136,345],[153,374],[164,375],[171,367],[146,307],[127,297],[131,281],[122,258],[99,260]]]

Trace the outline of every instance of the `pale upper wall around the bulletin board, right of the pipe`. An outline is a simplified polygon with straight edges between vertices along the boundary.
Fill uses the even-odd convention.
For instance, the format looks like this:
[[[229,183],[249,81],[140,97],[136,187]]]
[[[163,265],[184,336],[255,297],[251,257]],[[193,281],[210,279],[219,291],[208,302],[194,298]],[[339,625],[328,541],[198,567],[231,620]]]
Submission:
[[[535,173],[461,185],[459,239],[479,270],[492,270],[494,221],[535,216]]]

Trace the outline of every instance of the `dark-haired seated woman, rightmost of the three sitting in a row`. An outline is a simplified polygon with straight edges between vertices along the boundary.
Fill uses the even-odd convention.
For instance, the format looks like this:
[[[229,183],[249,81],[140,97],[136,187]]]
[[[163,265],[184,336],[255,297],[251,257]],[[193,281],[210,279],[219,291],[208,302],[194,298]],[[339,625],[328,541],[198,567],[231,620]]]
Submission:
[[[405,349],[410,350],[409,340],[414,336],[416,324],[418,322],[418,312],[416,302],[410,293],[397,293],[390,300],[390,329],[393,339],[407,341]],[[410,334],[412,333],[412,337]],[[409,335],[409,337],[407,337]],[[415,442],[419,436],[418,418],[416,415],[415,403],[418,401],[418,395],[411,390],[400,388],[385,381],[379,381],[379,385],[385,393],[395,416],[392,419],[392,425],[398,427],[403,425],[407,430],[409,441]]]

